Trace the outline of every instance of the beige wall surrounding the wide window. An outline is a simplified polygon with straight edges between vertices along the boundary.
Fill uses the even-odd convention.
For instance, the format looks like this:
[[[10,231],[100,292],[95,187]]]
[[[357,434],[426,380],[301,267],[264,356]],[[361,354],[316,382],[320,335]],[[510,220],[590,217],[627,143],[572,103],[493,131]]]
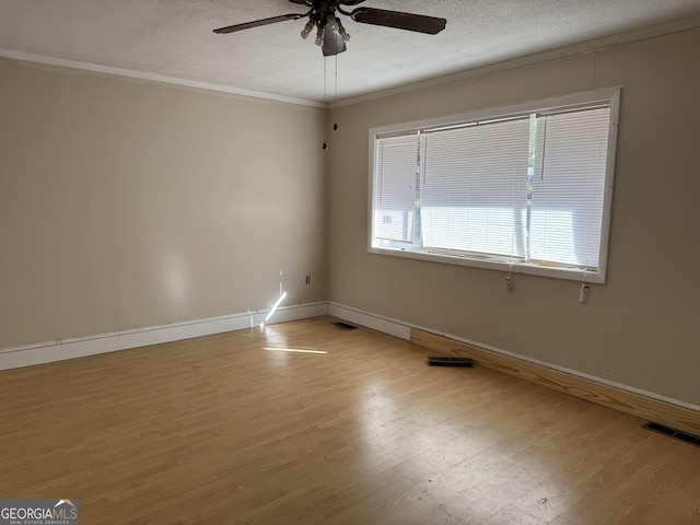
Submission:
[[[338,109],[329,300],[700,405],[700,28]],[[368,254],[376,126],[622,86],[608,278],[579,282]]]

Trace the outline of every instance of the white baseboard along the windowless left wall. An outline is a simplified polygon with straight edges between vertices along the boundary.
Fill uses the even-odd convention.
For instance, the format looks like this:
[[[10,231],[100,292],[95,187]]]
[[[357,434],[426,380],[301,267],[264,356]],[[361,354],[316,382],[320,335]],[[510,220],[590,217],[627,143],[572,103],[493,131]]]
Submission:
[[[325,301],[281,306],[275,312],[270,323],[305,319],[326,315],[327,313],[328,303]],[[0,349],[0,370],[19,369],[33,364],[50,363],[52,361],[116,352],[130,348],[159,345],[161,342],[191,339],[192,337],[242,330],[252,326],[258,326],[265,320],[267,314],[267,311],[246,312],[209,319],[176,323],[173,325],[153,326],[114,334],[102,334],[91,337]]]

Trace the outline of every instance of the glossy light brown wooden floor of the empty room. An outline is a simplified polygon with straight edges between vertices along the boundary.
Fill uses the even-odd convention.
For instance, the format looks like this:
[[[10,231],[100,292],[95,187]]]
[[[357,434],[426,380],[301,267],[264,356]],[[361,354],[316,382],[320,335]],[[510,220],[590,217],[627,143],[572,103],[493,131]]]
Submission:
[[[0,372],[0,498],[83,525],[700,524],[700,447],[336,320]]]

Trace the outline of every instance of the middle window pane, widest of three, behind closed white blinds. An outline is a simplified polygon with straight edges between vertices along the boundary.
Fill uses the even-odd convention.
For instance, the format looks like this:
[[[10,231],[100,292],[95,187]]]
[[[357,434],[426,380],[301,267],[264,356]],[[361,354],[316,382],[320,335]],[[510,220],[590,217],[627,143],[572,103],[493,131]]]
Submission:
[[[523,257],[527,118],[427,135],[423,245]]]

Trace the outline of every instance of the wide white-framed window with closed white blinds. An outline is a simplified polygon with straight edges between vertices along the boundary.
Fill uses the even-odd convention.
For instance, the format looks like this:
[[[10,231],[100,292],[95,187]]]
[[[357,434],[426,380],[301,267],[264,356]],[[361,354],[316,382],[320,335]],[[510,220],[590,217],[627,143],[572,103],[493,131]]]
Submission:
[[[370,130],[370,252],[605,282],[619,90]]]

